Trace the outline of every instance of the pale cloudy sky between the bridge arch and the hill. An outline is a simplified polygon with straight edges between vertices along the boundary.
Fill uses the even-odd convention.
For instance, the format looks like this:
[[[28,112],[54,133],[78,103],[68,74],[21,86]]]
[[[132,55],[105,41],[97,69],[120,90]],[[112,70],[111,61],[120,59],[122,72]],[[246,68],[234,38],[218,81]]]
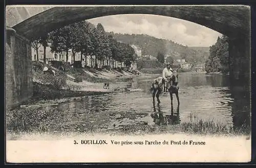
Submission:
[[[101,23],[106,32],[146,34],[187,46],[210,46],[222,34],[190,21],[159,15],[123,14],[89,19]]]

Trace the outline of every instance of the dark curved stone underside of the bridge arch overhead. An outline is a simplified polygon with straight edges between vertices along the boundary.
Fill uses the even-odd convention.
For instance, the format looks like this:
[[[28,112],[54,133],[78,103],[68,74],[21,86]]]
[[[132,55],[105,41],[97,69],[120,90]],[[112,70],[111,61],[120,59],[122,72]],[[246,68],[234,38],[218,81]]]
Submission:
[[[250,36],[250,8],[247,6],[54,7],[12,28],[31,39],[74,22],[116,14],[163,15],[204,25],[231,38]]]

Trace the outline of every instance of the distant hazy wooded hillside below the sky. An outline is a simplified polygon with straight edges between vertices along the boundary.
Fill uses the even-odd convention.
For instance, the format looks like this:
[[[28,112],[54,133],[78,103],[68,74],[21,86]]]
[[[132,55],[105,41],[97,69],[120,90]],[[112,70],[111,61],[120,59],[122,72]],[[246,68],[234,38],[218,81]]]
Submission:
[[[172,58],[168,59],[185,59],[188,63],[197,65],[204,65],[206,58],[209,56],[209,51],[193,49],[182,44],[178,44],[172,40],[159,39],[153,36],[144,34],[120,34],[110,32],[114,38],[123,41],[125,43],[134,44],[141,48],[142,55],[152,55],[153,57],[159,57],[161,54],[167,54]],[[172,61],[172,60],[169,60]],[[162,59],[160,59],[162,62]]]

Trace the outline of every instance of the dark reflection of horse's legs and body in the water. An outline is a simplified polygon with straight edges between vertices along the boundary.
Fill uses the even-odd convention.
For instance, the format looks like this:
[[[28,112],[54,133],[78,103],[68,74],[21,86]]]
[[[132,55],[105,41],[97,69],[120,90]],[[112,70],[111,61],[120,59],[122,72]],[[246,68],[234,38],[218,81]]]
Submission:
[[[160,105],[158,104],[157,109],[155,104],[153,104],[154,108],[154,114],[151,114],[151,117],[153,118],[153,122],[157,125],[176,125],[180,124],[180,107],[177,106],[176,113],[174,113],[173,106],[171,107],[171,113],[170,115],[163,114]]]

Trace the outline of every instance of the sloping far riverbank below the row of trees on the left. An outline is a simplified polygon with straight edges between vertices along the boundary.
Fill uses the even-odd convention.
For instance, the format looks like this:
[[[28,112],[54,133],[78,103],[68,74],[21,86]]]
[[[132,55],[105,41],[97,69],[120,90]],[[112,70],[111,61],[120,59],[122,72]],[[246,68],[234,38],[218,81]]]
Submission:
[[[127,88],[127,81],[136,75],[127,69],[94,69],[67,68],[66,71],[58,67],[50,66],[42,62],[33,61],[33,96],[25,104],[33,104],[38,101],[54,99],[67,100],[71,97],[94,96],[123,91]],[[48,67],[55,71],[55,75],[44,73],[42,70]],[[109,87],[104,88],[105,83]]]

